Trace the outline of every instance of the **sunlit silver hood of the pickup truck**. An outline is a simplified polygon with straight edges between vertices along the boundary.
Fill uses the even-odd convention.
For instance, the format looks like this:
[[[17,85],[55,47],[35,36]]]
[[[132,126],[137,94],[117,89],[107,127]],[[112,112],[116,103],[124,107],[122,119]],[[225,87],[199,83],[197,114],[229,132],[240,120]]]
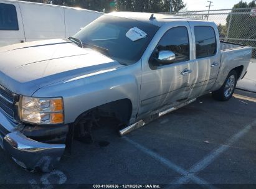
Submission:
[[[66,39],[0,48],[0,85],[27,96],[59,81],[118,67],[123,65],[90,48],[77,47]]]

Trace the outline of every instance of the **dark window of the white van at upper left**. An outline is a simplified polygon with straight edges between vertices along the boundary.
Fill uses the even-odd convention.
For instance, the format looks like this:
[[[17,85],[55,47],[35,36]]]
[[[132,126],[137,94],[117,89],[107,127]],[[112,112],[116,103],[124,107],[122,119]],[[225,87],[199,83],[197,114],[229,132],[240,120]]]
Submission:
[[[0,3],[0,30],[19,30],[16,7]]]

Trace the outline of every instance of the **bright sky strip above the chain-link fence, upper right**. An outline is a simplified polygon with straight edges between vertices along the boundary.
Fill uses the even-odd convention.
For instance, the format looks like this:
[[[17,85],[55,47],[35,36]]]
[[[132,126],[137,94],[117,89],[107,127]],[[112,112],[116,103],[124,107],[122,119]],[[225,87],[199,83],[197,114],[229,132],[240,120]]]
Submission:
[[[183,0],[187,7],[186,9],[189,11],[194,10],[206,10],[208,9],[209,2],[207,0]],[[209,1],[209,0],[208,0]],[[211,9],[232,9],[234,4],[237,4],[240,0],[211,0],[213,2],[213,7]],[[252,0],[243,0],[247,3]]]

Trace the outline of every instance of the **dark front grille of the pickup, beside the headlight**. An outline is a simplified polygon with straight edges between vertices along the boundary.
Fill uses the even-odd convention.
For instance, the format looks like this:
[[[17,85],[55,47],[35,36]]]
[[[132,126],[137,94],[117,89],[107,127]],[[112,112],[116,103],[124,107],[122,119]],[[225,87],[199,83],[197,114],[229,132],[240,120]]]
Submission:
[[[10,118],[14,119],[14,95],[11,91],[0,86],[0,109]]]

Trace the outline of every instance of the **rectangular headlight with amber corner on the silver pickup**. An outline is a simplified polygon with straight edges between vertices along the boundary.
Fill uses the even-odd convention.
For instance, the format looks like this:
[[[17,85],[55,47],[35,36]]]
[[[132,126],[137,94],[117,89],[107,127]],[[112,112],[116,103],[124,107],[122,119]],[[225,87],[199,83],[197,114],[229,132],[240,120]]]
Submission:
[[[63,99],[22,96],[21,120],[36,124],[62,124],[64,122]]]

